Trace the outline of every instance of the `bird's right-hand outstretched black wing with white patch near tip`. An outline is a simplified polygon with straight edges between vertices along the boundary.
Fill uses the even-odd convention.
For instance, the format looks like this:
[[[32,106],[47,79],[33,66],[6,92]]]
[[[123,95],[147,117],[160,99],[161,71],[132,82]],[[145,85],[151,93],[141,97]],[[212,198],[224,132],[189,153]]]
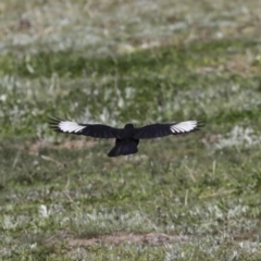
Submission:
[[[134,138],[149,139],[164,137],[167,135],[186,134],[198,130],[201,126],[203,126],[203,122],[197,120],[178,123],[157,123],[136,128]]]

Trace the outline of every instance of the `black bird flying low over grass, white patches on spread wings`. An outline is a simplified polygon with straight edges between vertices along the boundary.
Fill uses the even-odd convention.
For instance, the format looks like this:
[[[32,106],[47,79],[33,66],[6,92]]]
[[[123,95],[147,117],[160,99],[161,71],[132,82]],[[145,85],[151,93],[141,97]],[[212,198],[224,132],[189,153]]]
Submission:
[[[108,157],[117,157],[137,153],[139,139],[159,138],[167,135],[195,132],[202,126],[202,121],[191,120],[178,123],[156,123],[139,128],[128,123],[124,128],[114,128],[102,124],[83,124],[52,117],[49,124],[50,127],[58,133],[85,135],[94,138],[115,138],[115,146],[108,153]]]

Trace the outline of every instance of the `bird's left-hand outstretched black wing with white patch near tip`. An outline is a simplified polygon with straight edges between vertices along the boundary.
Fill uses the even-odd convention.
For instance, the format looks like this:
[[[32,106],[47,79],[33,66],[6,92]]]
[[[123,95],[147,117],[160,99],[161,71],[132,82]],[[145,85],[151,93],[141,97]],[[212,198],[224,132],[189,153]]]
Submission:
[[[49,126],[58,133],[85,135],[94,138],[119,138],[122,133],[122,128],[102,124],[82,124],[58,117],[50,117]]]

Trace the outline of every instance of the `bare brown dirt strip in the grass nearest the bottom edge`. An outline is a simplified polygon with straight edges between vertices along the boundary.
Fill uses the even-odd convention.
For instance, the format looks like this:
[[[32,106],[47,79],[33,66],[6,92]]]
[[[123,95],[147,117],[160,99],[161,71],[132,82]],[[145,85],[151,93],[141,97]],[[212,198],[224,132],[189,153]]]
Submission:
[[[141,243],[150,245],[163,245],[171,243],[187,241],[187,236],[166,235],[162,233],[149,233],[149,234],[128,234],[128,233],[115,233],[112,235],[98,236],[94,238],[74,238],[69,239],[70,246],[91,246],[95,244],[119,245],[121,243]]]

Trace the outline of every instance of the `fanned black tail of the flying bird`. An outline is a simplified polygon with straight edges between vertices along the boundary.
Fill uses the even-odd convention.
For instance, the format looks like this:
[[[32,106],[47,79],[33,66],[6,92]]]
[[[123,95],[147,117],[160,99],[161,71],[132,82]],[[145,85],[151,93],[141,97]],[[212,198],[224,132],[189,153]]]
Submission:
[[[127,156],[138,152],[137,144],[132,140],[122,141],[115,145],[108,153],[108,157]]]

